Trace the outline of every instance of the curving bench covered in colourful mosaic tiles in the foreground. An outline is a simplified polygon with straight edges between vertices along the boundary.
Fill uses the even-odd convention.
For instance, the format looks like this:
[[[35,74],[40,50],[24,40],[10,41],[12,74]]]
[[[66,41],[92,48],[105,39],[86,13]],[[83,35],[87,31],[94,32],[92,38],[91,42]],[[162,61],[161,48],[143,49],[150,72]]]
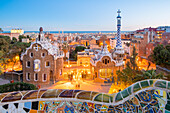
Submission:
[[[0,94],[0,113],[170,113],[170,81],[144,80],[114,94],[39,89]]]

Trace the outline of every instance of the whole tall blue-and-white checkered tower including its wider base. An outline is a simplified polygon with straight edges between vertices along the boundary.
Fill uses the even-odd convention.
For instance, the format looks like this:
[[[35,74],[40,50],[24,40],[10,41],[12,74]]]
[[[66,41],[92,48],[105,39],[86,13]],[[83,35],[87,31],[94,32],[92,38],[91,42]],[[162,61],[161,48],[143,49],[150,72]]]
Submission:
[[[115,55],[116,60],[119,63],[123,63],[123,56],[124,56],[124,48],[122,47],[122,41],[121,41],[121,11],[117,11],[117,40],[116,40],[116,47],[115,47]]]

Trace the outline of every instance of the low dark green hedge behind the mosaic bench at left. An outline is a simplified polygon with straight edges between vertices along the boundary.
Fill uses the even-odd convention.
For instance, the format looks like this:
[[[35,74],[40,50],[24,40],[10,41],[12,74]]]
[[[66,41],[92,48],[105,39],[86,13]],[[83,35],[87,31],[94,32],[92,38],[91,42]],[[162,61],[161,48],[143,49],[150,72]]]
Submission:
[[[12,92],[12,91],[24,91],[24,90],[36,90],[36,86],[24,82],[15,82],[0,85],[0,93]]]

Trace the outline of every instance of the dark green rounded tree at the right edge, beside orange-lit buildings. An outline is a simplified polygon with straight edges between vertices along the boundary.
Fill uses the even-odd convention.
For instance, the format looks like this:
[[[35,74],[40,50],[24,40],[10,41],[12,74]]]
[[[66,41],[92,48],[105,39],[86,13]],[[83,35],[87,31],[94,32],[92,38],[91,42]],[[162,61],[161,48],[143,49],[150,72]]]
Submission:
[[[168,67],[170,65],[170,45],[158,45],[154,48],[152,58],[157,65]]]

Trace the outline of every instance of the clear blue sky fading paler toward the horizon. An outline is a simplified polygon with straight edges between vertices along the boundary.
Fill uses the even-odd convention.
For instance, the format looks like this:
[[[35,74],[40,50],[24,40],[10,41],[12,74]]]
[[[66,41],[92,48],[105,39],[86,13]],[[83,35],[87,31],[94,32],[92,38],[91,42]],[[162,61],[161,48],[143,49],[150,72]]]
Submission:
[[[170,0],[0,0],[0,28],[46,31],[115,31],[170,26]]]

